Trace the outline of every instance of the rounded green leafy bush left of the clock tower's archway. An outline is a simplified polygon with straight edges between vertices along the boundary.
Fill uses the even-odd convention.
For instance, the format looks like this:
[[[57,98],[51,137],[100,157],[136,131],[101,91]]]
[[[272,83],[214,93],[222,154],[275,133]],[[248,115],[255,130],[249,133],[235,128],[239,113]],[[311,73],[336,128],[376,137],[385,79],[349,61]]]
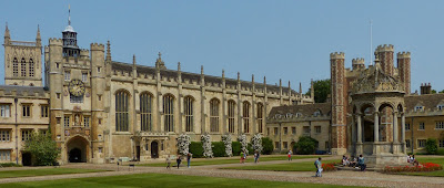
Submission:
[[[51,136],[32,132],[31,137],[24,143],[24,152],[32,156],[32,163],[37,166],[52,166],[59,157],[60,149]]]

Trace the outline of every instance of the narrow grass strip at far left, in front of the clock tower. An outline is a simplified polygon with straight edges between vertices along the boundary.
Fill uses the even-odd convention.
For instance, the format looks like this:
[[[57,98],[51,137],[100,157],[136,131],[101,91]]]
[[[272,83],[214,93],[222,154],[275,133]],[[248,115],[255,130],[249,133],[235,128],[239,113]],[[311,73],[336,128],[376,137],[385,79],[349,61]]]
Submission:
[[[80,169],[80,168],[40,168],[27,170],[4,170],[0,171],[0,178],[17,178],[17,177],[31,177],[31,176],[47,176],[47,175],[65,175],[65,174],[83,174],[105,171],[101,169]]]

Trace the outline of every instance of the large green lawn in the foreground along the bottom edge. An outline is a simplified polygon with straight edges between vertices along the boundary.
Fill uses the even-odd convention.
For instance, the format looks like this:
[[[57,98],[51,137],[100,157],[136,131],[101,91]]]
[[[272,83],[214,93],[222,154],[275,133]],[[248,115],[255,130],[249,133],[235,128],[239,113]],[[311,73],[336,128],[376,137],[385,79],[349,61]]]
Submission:
[[[181,176],[163,174],[138,174],[124,176],[108,176],[94,178],[59,179],[46,181],[29,181],[14,184],[0,184],[0,187],[63,187],[63,188],[113,188],[113,187],[344,187],[334,185],[281,182],[249,179],[215,178],[200,176]]]

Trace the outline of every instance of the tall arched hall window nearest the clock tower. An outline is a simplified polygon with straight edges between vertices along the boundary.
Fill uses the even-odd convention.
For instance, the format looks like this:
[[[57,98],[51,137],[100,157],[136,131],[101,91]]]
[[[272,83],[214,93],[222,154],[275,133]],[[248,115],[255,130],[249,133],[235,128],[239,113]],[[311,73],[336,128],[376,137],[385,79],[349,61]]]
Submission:
[[[129,125],[129,95],[124,91],[115,94],[115,130],[128,132]]]

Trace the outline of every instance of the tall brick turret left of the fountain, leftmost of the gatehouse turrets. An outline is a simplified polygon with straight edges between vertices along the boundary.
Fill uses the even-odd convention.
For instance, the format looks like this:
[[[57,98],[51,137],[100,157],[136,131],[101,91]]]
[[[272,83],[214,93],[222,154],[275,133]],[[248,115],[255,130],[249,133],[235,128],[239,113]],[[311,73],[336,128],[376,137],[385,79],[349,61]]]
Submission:
[[[332,154],[346,153],[346,103],[347,92],[344,69],[345,55],[341,53],[330,54],[331,90],[332,90]]]

